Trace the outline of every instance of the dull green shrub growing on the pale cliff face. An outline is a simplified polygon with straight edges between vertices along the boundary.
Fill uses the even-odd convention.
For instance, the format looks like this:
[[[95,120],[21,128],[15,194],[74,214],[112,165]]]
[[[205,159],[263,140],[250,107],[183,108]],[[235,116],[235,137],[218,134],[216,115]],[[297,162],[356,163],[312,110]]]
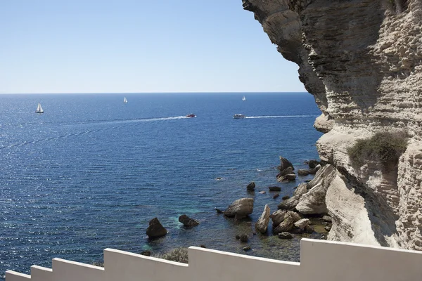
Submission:
[[[407,140],[407,133],[403,131],[376,133],[371,138],[357,141],[347,149],[347,154],[357,166],[368,160],[381,162],[383,166],[396,165],[407,148]]]

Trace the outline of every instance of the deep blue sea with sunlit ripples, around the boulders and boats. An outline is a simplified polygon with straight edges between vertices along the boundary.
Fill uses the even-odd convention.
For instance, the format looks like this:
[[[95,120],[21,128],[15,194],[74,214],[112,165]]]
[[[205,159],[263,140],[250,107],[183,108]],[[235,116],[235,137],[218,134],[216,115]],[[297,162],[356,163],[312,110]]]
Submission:
[[[44,114],[34,113],[39,102]],[[265,204],[276,211],[312,178],[277,183],[275,167],[280,155],[296,169],[318,157],[319,114],[309,93],[0,95],[0,279],[55,257],[101,261],[107,247],[155,254],[204,244],[297,261],[300,237],[252,232]],[[269,185],[281,186],[279,198]],[[255,198],[250,220],[216,213],[242,197]],[[200,225],[183,228],[181,214]],[[154,217],[168,234],[150,241]],[[251,251],[235,239],[243,233]]]

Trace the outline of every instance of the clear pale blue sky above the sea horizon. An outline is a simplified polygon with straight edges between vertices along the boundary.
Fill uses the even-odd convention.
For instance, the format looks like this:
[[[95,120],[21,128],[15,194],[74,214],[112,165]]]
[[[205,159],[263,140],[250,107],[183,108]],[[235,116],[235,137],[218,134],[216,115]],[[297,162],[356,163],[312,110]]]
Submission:
[[[305,91],[241,0],[0,0],[0,93]]]

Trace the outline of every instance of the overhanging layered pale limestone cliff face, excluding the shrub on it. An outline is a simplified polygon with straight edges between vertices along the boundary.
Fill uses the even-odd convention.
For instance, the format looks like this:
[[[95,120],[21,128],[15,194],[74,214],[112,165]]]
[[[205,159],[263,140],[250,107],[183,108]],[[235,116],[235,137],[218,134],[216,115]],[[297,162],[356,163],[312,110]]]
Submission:
[[[422,250],[422,0],[243,0],[322,114],[328,239]],[[347,148],[406,131],[399,162],[352,165]]]

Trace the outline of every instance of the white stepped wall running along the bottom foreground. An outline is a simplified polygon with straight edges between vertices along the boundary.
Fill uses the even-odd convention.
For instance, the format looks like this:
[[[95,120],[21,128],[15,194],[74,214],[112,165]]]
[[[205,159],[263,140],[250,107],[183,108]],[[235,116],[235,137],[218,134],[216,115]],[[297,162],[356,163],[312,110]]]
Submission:
[[[53,259],[31,275],[6,272],[6,281],[407,281],[422,280],[422,251],[302,239],[300,263],[190,247],[189,264],[115,249],[104,268]]]

